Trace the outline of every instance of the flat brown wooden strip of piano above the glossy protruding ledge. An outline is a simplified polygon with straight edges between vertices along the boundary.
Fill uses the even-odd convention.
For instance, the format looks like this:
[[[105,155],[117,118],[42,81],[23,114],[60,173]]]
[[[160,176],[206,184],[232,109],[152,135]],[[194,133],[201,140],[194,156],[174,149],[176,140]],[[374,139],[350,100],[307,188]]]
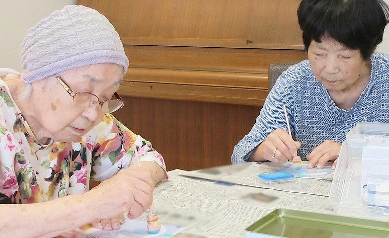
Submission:
[[[267,74],[274,62],[307,59],[302,50],[125,46],[130,68],[185,69]]]

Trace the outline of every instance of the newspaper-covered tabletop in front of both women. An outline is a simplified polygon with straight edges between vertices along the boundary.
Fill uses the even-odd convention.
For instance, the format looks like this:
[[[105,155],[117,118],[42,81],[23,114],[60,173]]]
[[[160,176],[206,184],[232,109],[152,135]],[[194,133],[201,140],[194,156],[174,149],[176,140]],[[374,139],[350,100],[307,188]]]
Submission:
[[[156,185],[152,209],[161,223],[184,228],[174,238],[244,238],[246,227],[277,208],[332,213],[328,199],[330,175],[321,180],[294,180],[284,183],[286,187],[256,187],[257,174],[273,166],[246,162],[189,172],[169,171],[169,180]],[[145,220],[146,216],[139,219]],[[120,230],[108,233],[108,237],[128,237]]]

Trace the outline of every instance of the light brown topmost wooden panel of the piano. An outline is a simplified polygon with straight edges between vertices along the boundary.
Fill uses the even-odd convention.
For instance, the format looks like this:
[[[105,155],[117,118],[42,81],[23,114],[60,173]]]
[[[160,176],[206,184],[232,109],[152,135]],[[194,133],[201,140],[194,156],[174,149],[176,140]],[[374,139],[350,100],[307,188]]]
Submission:
[[[122,37],[243,39],[254,44],[286,46],[303,45],[296,16],[299,3],[300,0],[78,1],[104,14]]]

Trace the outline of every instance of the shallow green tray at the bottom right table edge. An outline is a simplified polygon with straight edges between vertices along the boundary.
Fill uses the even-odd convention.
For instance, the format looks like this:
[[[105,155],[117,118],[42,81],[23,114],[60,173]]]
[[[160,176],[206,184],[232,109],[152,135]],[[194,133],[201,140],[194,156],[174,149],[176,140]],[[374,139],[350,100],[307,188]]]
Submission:
[[[389,223],[276,209],[246,228],[246,238],[389,238]]]

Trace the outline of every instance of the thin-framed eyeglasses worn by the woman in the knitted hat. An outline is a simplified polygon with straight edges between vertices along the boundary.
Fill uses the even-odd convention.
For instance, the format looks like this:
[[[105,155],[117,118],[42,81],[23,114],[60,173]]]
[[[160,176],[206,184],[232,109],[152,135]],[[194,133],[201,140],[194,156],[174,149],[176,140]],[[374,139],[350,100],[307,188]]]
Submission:
[[[74,92],[68,84],[61,78],[57,77],[57,80],[61,83],[61,85],[65,88],[65,90],[69,93],[71,97],[73,97],[73,103],[81,108],[87,108],[98,103],[101,106],[101,111],[112,113],[124,106],[124,101],[119,96],[117,92],[113,94],[114,99],[108,99],[105,101],[100,101],[98,96],[94,95],[90,92]]]

